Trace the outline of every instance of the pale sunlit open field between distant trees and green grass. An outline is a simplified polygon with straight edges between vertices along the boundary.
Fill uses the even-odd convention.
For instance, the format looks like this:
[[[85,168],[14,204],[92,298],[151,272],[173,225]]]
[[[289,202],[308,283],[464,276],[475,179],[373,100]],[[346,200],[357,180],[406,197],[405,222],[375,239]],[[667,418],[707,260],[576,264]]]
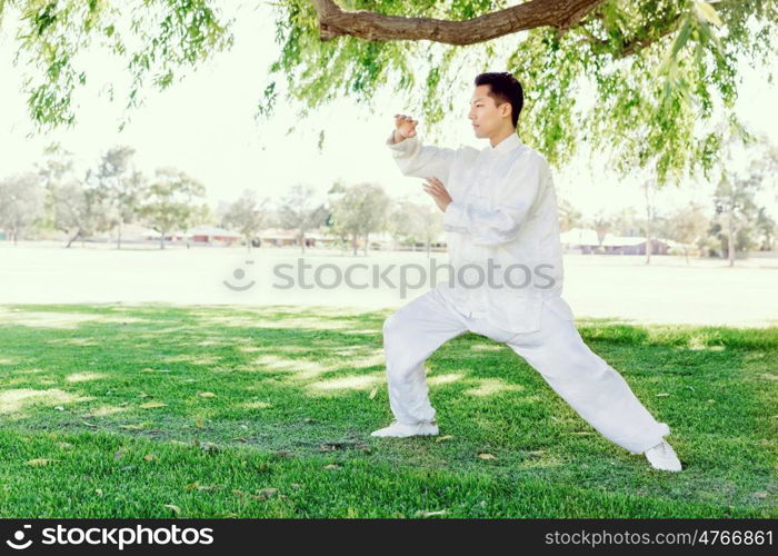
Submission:
[[[167,248],[122,249],[107,246],[64,249],[60,244],[0,242],[0,304],[136,304],[174,305],[299,305],[397,308],[429,289],[429,284],[400,291],[385,284],[366,289],[299,287],[279,289],[283,284],[273,266],[297,265],[298,249]],[[436,255],[439,265],[445,254]],[[247,260],[252,260],[248,264]],[[429,268],[425,254],[371,252],[352,257],[338,252],[309,250],[305,264],[313,268],[367,264],[383,271],[403,264]],[[297,268],[297,267],[296,267]],[[390,276],[398,277],[395,269]],[[236,279],[235,272],[243,272]],[[309,272],[312,272],[310,270]],[[360,274],[362,272],[362,274]],[[360,270],[355,280],[367,275]],[[321,274],[322,284],[335,284],[331,271]],[[412,280],[416,280],[416,275]],[[243,286],[233,291],[225,281]],[[330,281],[328,281],[330,280]],[[409,280],[409,284],[413,281]],[[562,296],[577,318],[618,318],[625,322],[695,324],[711,326],[764,327],[778,325],[778,259],[738,260],[735,268],[717,259],[692,259],[686,265],[678,257],[565,257]]]

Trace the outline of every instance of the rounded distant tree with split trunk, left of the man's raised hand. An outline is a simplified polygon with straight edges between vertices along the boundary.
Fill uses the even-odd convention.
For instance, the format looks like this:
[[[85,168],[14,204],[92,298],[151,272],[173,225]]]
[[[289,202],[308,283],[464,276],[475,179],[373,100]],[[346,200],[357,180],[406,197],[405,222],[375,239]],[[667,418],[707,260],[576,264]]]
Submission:
[[[342,189],[331,189],[337,195],[331,202],[332,228],[351,238],[353,255],[357,241],[365,240],[368,254],[370,234],[386,229],[391,200],[377,183],[357,183]]]

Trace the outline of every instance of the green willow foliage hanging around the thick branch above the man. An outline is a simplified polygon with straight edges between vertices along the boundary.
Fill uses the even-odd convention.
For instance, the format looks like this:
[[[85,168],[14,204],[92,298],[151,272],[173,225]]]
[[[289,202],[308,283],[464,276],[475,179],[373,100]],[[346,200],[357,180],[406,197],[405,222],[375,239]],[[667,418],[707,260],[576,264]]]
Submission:
[[[389,13],[383,3],[358,2],[358,9]],[[497,2],[473,0],[433,3],[403,2],[401,14],[462,19],[497,8]],[[565,163],[590,139],[621,171],[632,171],[636,163],[650,167],[664,183],[710,163],[710,157],[697,156],[707,139],[697,136],[696,127],[712,116],[716,98],[725,106],[734,100],[737,53],[757,41],[761,50],[769,43],[748,31],[745,14],[767,20],[775,19],[774,12],[755,1],[719,2],[719,9],[711,3],[610,0],[563,34],[533,29],[463,48],[397,41],[379,49],[351,37],[321,43],[316,24],[300,16],[310,12],[309,2],[286,0],[277,19],[282,49],[271,73],[287,80],[306,109],[333,95],[369,102],[386,83],[400,102],[398,110],[421,108],[428,139],[435,141],[435,125],[456,117],[446,107],[457,106],[453,100],[477,72],[497,64],[525,85],[519,132],[551,163]],[[775,7],[775,0],[767,3]],[[271,95],[275,90],[266,91],[262,117],[272,111]]]

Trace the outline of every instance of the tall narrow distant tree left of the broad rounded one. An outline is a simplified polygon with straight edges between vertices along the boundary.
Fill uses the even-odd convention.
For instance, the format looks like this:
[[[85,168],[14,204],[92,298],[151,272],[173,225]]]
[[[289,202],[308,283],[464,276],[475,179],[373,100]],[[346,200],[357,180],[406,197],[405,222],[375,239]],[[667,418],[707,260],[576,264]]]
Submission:
[[[132,166],[134,152],[132,147],[112,147],[102,155],[92,175],[110,208],[108,221],[117,230],[117,249],[121,249],[124,225],[137,220],[144,195],[146,178]]]

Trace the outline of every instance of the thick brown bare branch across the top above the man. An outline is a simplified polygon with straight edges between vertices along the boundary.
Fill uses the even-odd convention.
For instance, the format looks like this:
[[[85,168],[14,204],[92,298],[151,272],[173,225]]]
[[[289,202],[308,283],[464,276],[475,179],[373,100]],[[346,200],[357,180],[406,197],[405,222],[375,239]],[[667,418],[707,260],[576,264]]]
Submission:
[[[343,34],[369,41],[430,40],[465,46],[527,29],[566,30],[604,0],[530,0],[478,18],[449,21],[385,16],[367,10],[346,11],[333,0],[310,0],[319,16],[322,41]]]

